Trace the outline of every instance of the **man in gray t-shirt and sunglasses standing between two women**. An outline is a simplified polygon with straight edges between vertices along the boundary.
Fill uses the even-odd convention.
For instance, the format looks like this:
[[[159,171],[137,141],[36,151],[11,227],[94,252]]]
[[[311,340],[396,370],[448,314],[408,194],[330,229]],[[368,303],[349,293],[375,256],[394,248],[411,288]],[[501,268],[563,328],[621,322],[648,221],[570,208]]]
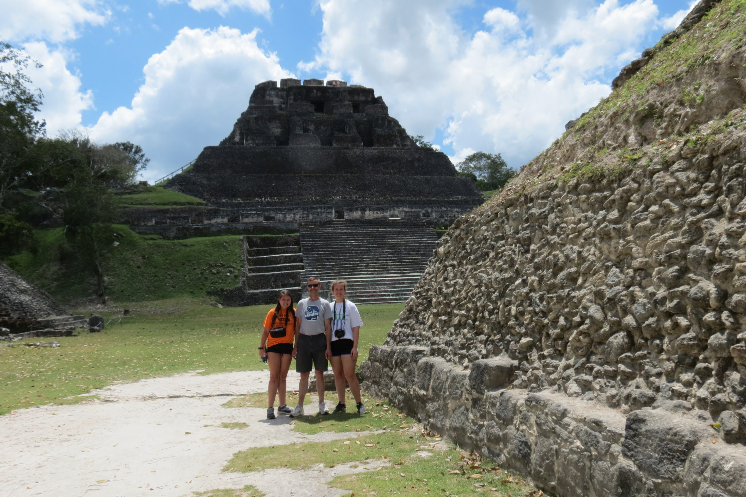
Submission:
[[[311,369],[316,369],[316,392],[319,393],[319,413],[328,414],[324,403],[324,372],[329,369],[331,359],[331,306],[319,297],[319,278],[308,278],[308,298],[303,298],[295,307],[295,371],[301,373],[298,385],[298,405],[290,417],[303,415],[303,401],[308,390]]]

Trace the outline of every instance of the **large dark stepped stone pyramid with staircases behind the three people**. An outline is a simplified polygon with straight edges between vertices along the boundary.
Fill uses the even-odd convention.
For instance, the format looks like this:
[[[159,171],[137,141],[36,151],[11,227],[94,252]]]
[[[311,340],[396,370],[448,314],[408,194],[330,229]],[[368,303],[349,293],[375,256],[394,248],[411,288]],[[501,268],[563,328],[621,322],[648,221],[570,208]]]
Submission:
[[[131,228],[246,234],[242,283],[221,293],[233,305],[299,293],[307,275],[347,279],[359,303],[404,301],[435,248],[432,228],[483,201],[445,154],[413,143],[372,88],[316,79],[257,84],[231,134],[165,186],[207,206],[131,209]],[[251,236],[272,230],[300,235]]]

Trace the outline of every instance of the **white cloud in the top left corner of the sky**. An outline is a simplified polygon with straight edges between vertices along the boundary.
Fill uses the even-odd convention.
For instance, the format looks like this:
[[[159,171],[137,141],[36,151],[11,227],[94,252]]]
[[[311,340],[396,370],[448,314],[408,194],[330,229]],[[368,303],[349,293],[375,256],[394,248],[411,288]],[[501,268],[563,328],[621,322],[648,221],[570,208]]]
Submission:
[[[0,40],[61,43],[77,38],[80,25],[103,25],[110,15],[110,10],[98,0],[4,1]]]

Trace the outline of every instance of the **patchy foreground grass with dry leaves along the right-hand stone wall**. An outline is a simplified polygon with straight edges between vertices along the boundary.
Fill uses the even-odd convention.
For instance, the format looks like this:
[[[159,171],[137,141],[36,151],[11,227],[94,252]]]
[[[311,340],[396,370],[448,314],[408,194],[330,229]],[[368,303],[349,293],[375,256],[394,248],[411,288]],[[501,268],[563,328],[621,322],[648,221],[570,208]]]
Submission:
[[[342,475],[331,482],[333,487],[349,490],[351,493],[347,495],[350,496],[421,495],[425,492],[442,496],[539,495],[534,487],[499,468],[495,461],[460,451],[388,402],[366,400],[370,410],[362,416],[315,414],[293,420],[295,431],[306,434],[350,432],[346,440],[248,448],[233,454],[223,470],[297,470],[310,469],[319,463],[327,468],[353,463],[352,467],[363,466],[370,471]]]

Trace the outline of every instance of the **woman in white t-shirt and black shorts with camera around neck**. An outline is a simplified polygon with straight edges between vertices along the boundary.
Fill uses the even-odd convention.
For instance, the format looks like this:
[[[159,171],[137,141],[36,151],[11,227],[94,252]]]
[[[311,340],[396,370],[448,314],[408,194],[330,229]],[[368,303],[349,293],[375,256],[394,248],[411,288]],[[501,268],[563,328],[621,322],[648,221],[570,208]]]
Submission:
[[[345,299],[347,293],[347,282],[336,280],[331,283],[331,293],[334,301],[331,303],[331,369],[334,371],[334,382],[336,384],[336,395],[339,404],[334,407],[334,413],[344,413],[345,406],[345,379],[350,385],[352,396],[357,402],[357,413],[366,412],[363,399],[360,398],[360,382],[355,375],[355,364],[357,363],[357,340],[360,337],[360,326],[363,320],[357,306]]]

